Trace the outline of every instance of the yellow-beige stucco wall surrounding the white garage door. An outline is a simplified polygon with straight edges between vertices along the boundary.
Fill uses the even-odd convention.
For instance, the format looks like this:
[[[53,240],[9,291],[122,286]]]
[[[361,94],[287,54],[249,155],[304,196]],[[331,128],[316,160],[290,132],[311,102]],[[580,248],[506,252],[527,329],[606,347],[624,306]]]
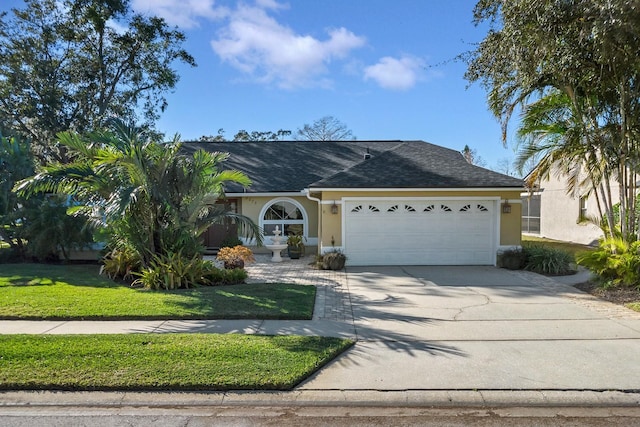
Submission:
[[[508,200],[511,213],[500,213],[500,246],[519,246],[522,237],[522,205],[520,191],[357,191],[336,192],[327,191],[322,194],[321,238],[319,244],[323,248],[331,246],[332,239],[335,246],[342,246],[342,198],[343,197],[500,197],[501,201]],[[338,205],[338,213],[331,213],[331,203]]]

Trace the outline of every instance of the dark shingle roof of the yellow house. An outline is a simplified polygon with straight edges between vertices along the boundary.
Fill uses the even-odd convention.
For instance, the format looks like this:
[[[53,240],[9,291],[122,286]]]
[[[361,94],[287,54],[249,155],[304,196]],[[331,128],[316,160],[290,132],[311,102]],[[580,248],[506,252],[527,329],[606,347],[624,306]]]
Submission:
[[[277,141],[184,143],[183,149],[230,154],[253,184],[247,193],[305,188],[522,187],[522,180],[470,165],[455,150],[424,141]],[[365,159],[369,152],[370,158]],[[227,192],[243,192],[230,186]]]

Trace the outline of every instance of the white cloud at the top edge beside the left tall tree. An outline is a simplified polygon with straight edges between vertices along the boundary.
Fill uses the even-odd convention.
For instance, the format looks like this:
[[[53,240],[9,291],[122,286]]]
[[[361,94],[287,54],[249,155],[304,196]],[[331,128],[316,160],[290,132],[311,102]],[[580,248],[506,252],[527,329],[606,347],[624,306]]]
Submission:
[[[199,18],[217,19],[227,13],[226,8],[215,7],[214,0],[133,0],[131,6],[183,29],[198,26]]]

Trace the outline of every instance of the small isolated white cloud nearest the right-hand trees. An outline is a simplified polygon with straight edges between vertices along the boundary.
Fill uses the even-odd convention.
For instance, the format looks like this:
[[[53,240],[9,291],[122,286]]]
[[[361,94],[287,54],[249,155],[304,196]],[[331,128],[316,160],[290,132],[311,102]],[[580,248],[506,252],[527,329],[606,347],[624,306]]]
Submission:
[[[392,90],[407,90],[421,78],[424,61],[412,56],[400,59],[385,56],[377,64],[364,69],[364,79],[374,80],[380,87]]]

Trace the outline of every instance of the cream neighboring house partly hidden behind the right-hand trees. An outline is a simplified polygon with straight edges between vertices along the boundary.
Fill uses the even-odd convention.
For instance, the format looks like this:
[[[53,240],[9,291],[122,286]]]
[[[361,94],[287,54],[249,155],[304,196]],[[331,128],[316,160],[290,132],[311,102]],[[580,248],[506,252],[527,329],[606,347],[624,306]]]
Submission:
[[[603,233],[587,218],[599,215],[595,196],[567,194],[566,178],[555,173],[540,182],[535,191],[522,193],[523,234],[595,244]]]

